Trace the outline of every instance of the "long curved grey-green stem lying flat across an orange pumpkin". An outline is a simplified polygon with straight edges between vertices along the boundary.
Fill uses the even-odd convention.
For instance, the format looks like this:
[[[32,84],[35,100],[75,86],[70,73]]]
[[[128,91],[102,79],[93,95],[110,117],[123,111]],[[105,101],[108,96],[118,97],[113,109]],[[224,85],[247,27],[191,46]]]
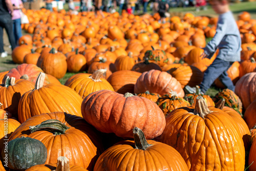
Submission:
[[[38,125],[29,126],[29,130],[31,131],[31,133],[34,133],[36,131],[49,131],[54,135],[65,134],[68,129],[68,126],[56,119],[49,119],[41,122]]]

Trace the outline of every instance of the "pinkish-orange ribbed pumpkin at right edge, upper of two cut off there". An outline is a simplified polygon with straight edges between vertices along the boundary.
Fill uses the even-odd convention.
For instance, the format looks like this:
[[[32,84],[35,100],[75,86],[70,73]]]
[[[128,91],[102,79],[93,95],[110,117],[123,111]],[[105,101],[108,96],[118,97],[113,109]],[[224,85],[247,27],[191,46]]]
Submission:
[[[256,99],[256,72],[247,73],[242,76],[234,89],[246,109],[250,103]]]

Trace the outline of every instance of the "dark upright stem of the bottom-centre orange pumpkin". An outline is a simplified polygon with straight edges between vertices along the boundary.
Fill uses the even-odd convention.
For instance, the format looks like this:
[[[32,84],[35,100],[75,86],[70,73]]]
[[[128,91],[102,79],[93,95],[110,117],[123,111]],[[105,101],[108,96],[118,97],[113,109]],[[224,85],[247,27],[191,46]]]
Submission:
[[[147,143],[144,133],[138,127],[133,129],[133,137],[136,149],[145,150],[147,147],[151,146],[151,144]]]

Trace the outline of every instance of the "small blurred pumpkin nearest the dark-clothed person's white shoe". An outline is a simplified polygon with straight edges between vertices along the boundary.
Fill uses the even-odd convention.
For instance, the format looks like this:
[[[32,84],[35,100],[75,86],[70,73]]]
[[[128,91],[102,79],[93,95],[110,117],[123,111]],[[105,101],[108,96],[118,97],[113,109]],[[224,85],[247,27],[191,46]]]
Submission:
[[[28,45],[17,46],[12,51],[12,60],[14,63],[23,63],[24,57],[31,53],[31,48]]]

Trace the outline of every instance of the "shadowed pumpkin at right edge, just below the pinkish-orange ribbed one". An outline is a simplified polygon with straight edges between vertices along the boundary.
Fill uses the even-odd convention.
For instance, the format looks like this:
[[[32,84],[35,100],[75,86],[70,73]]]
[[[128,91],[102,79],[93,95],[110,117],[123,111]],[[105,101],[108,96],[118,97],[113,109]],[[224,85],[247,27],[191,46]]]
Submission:
[[[256,108],[255,108],[256,100],[252,101],[251,104],[246,108],[245,113],[244,113],[244,120],[247,123],[249,129],[252,129],[252,127],[256,123],[256,118],[255,118],[255,113],[256,113]]]

